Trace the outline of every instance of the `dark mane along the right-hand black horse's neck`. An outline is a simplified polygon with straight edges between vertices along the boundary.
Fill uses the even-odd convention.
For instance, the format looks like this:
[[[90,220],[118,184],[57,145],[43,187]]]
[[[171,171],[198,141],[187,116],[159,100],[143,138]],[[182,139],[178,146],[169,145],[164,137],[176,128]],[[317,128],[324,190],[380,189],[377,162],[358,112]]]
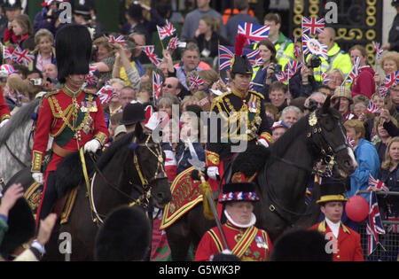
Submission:
[[[271,144],[270,151],[273,157],[282,158],[286,153],[288,146],[290,146],[290,144],[293,143],[298,136],[307,131],[309,126],[308,122],[309,115],[302,117],[295,124],[293,124],[293,127],[287,129],[286,133],[284,133],[284,135],[281,136],[276,143]]]

